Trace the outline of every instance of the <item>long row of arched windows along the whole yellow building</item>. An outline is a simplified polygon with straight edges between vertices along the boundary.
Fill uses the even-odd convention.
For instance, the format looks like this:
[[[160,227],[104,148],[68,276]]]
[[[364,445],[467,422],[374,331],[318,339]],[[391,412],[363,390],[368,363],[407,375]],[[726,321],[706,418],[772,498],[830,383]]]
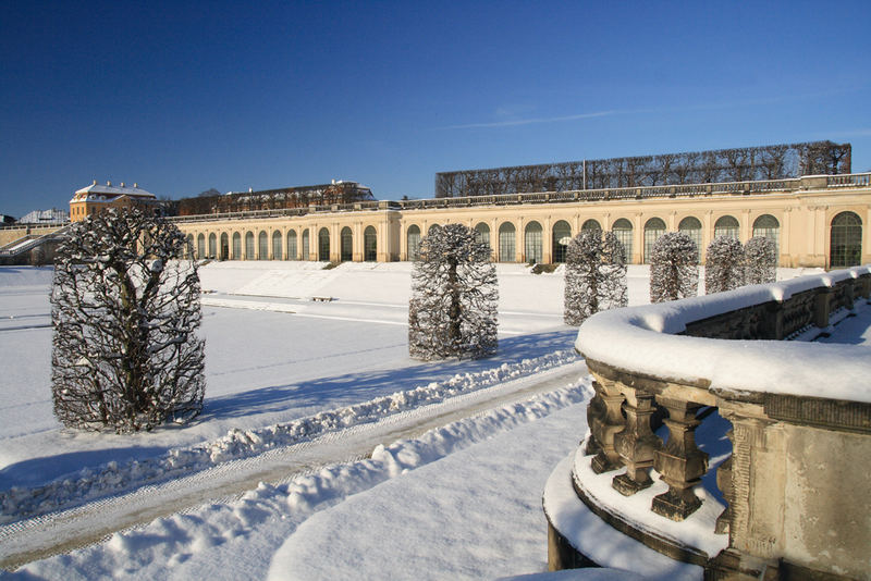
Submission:
[[[713,222],[713,223],[711,223]],[[232,224],[232,223],[231,223]],[[228,225],[231,225],[228,224]],[[529,220],[518,224],[513,219],[492,219],[469,222],[480,243],[491,247],[493,259],[500,262],[553,262],[565,261],[566,243],[579,231],[604,230],[614,232],[626,249],[630,262],[647,262],[657,239],[667,230],[675,228],[687,234],[704,252],[704,246],[716,236],[744,238],[765,236],[774,240],[789,264],[795,260],[796,240],[801,240],[800,232],[789,236],[782,233],[782,224],[772,214],[756,217],[752,222],[739,222],[735,215],[720,215],[708,221],[696,215],[685,215],[671,226],[660,217],[638,219],[617,218],[616,220]],[[793,220],[790,232],[801,222]],[[197,228],[187,236],[188,256],[222,260],[413,260],[418,255],[421,238],[427,228],[436,224],[388,222],[381,225],[333,224],[329,227],[248,227],[231,230],[216,227]],[[388,228],[381,232],[380,228]],[[403,231],[404,228],[404,231]],[[825,227],[829,268],[843,268],[860,263],[862,258],[863,224],[854,211],[842,211],[829,219]],[[189,231],[188,231],[189,232]],[[809,234],[806,234],[809,235]],[[746,242],[746,240],[741,240]],[[803,243],[802,243],[803,244]],[[822,254],[822,252],[821,252]]]

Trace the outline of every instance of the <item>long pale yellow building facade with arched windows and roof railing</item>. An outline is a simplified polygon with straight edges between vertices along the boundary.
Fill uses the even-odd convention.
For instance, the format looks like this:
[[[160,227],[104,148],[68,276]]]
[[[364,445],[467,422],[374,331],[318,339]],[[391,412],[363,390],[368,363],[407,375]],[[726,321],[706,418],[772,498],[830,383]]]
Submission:
[[[500,262],[562,262],[581,230],[613,231],[630,263],[684,232],[702,261],[715,236],[775,240],[782,267],[871,262],[871,174],[363,202],[174,219],[196,258],[395,261],[433,225],[475,228]],[[74,218],[75,219],[75,218]]]

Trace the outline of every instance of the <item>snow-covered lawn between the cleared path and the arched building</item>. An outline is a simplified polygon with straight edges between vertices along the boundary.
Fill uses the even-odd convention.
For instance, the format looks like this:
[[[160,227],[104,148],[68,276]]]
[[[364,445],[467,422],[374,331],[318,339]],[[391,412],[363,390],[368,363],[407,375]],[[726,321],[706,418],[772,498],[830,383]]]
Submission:
[[[574,330],[562,324],[562,276],[507,267],[500,316],[502,327],[510,329],[501,329],[499,355],[483,361],[420,363],[407,355],[407,264],[385,264],[392,268],[382,269],[383,275],[375,275],[368,264],[329,271],[315,267],[322,264],[203,268],[203,288],[211,292],[204,295],[204,412],[185,428],[134,435],[62,429],[51,410],[51,271],[0,269],[0,492],[36,486],[84,467],[161,456],[231,430],[289,422],[457,374],[503,366],[513,370],[524,360],[573,353]],[[240,288],[245,295],[234,294]],[[287,298],[295,295],[304,298]],[[334,300],[306,298],[312,295]]]

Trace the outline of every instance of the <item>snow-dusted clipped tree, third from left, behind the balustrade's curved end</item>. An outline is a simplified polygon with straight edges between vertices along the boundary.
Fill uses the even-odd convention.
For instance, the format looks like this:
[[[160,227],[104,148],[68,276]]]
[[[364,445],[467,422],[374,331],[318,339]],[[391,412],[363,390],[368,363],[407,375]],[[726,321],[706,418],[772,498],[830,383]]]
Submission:
[[[563,319],[580,325],[600,310],[629,304],[623,245],[611,233],[584,231],[568,243]]]

